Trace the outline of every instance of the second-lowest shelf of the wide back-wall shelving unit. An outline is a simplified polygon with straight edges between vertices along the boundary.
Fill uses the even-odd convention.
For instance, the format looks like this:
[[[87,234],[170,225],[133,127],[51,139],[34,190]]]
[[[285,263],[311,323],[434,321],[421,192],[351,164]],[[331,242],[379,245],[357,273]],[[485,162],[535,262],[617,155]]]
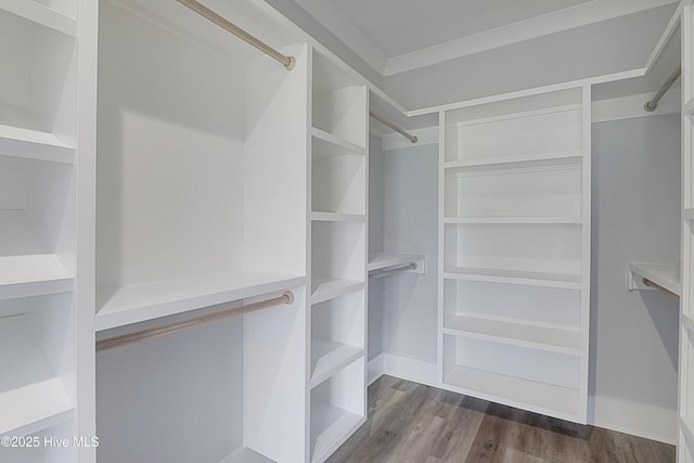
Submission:
[[[516,337],[510,337],[510,336],[504,336],[503,334],[494,334],[492,332],[490,332],[491,330],[488,331],[473,331],[473,330],[465,330],[465,329],[460,329],[460,327],[454,327],[452,326],[452,322],[455,318],[460,318],[460,319],[473,319],[473,320],[484,320],[485,322],[487,322],[490,327],[493,327],[493,324],[513,324],[517,326],[518,331],[522,331],[524,327],[526,329],[536,329],[536,330],[544,330],[544,331],[555,331],[557,333],[562,333],[564,336],[568,336],[568,335],[575,335],[576,338],[574,339],[574,345],[573,346],[568,346],[568,345],[560,345],[556,343],[551,343],[550,340],[528,340],[527,338],[523,338],[520,336],[516,336]],[[468,338],[475,338],[475,339],[481,339],[481,340],[490,340],[497,344],[505,344],[505,345],[511,345],[511,346],[518,346],[518,347],[526,347],[526,348],[530,348],[530,349],[537,349],[537,350],[544,350],[544,351],[549,351],[549,352],[556,352],[556,353],[563,353],[563,355],[567,355],[567,356],[580,356],[581,355],[581,348],[580,348],[580,333],[578,332],[578,330],[567,330],[567,329],[560,329],[560,327],[549,327],[549,326],[540,326],[540,325],[534,325],[530,323],[515,323],[512,321],[501,321],[501,320],[492,320],[492,319],[484,319],[484,318],[476,318],[476,317],[466,317],[466,316],[460,316],[460,314],[451,314],[448,313],[446,314],[445,319],[444,319],[444,334],[448,334],[448,335],[452,335],[452,336],[463,336],[463,337],[468,337]],[[568,343],[567,343],[568,344]]]

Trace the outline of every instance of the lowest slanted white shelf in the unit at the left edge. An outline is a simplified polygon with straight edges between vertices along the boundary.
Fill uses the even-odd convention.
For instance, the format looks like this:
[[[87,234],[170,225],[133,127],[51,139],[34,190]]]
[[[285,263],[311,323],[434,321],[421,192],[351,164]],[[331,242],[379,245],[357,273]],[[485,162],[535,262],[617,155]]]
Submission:
[[[0,435],[65,419],[73,404],[25,316],[0,319]]]

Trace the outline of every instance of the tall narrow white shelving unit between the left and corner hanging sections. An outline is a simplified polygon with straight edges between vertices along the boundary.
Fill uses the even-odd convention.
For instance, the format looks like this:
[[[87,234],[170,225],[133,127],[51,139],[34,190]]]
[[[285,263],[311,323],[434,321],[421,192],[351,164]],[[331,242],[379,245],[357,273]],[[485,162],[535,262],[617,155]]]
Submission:
[[[308,461],[365,420],[368,90],[312,54],[307,319]]]

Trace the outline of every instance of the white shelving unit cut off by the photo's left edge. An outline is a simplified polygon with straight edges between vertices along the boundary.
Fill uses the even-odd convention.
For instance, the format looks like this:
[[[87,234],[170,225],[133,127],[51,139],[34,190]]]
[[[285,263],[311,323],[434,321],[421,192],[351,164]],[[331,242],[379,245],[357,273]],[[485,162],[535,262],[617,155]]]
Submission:
[[[76,434],[77,2],[0,4],[0,460],[69,461]]]

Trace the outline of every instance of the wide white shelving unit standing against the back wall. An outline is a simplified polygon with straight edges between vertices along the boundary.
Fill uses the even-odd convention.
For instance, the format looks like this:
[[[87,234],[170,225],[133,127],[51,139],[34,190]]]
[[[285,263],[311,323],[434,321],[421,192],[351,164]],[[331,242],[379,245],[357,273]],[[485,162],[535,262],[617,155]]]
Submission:
[[[590,88],[440,118],[442,384],[586,423]]]

